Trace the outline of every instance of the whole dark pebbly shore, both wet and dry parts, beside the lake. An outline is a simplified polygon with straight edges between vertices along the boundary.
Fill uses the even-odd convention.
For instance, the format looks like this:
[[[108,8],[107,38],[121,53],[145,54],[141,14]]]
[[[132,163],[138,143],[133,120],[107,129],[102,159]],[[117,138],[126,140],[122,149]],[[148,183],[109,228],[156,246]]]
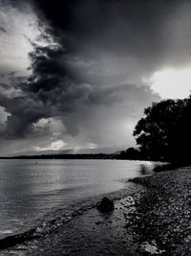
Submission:
[[[191,168],[132,180],[138,190],[1,255],[191,255]]]

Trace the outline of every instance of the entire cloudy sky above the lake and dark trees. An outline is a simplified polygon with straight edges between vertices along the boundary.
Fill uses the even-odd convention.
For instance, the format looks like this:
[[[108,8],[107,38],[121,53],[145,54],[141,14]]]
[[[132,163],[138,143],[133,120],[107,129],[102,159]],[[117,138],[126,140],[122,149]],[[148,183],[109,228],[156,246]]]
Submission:
[[[0,155],[136,147],[191,89],[191,1],[0,0]]]

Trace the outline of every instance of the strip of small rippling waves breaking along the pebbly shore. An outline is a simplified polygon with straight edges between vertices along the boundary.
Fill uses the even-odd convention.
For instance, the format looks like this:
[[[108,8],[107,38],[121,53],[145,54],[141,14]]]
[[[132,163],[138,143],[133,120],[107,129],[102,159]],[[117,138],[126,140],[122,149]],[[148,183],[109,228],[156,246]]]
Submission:
[[[50,234],[57,232],[57,230],[67,222],[73,221],[77,216],[85,215],[92,209],[96,209],[96,203],[103,197],[109,197],[117,201],[118,199],[128,197],[130,194],[136,194],[138,190],[141,189],[141,185],[137,185],[133,182],[126,183],[125,179],[121,179],[120,181],[126,184],[125,187],[120,190],[97,195],[95,197],[83,198],[66,205],[67,207],[65,208],[54,209],[47,213],[41,221],[39,220],[36,225],[32,226],[31,229],[1,239],[0,255],[12,255],[12,253],[14,255],[14,253],[18,254],[21,252],[23,254],[23,250],[25,251],[28,246],[30,247],[33,241],[38,244],[39,239],[43,240]],[[20,247],[22,247],[22,251],[20,251]]]

